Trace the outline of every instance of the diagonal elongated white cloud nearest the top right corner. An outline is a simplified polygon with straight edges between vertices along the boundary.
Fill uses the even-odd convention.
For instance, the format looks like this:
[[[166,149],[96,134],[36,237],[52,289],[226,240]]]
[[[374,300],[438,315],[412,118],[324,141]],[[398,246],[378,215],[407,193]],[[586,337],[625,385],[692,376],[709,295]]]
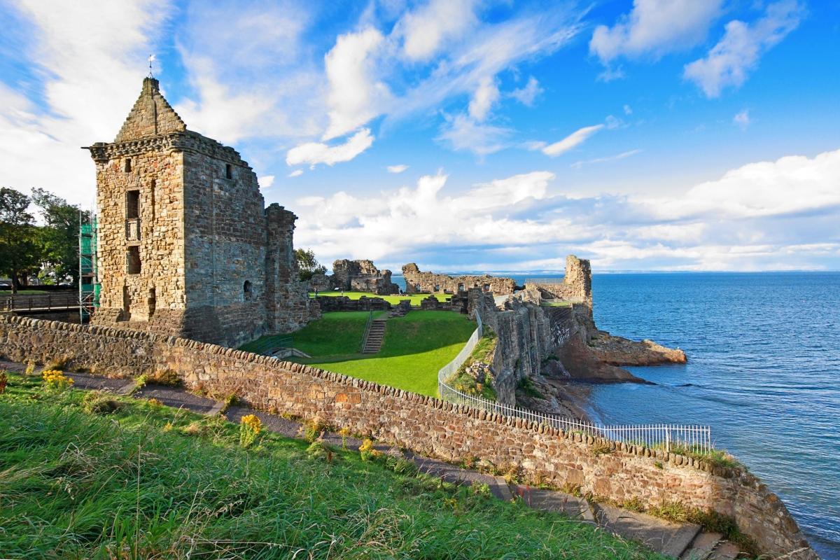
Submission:
[[[761,55],[796,29],[803,13],[796,0],[782,0],[769,4],[752,25],[732,20],[706,58],[685,65],[683,76],[700,86],[706,97],[718,97],[726,87],[738,88]]]

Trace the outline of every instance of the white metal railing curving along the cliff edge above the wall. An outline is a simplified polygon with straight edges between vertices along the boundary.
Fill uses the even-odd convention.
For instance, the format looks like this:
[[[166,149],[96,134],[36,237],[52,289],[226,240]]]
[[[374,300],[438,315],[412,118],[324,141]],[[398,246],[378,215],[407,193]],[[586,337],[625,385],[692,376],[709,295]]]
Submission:
[[[714,449],[711,442],[711,427],[679,424],[631,424],[631,425],[601,425],[594,422],[580,420],[571,416],[548,414],[534,411],[521,406],[503,405],[495,400],[488,400],[476,395],[467,395],[446,384],[446,380],[470,358],[478,344],[483,326],[478,312],[475,313],[478,327],[467,340],[464,348],[455,358],[438,371],[438,393],[440,398],[449,402],[470,406],[482,411],[522,418],[525,421],[536,421],[546,426],[554,427],[565,432],[580,432],[581,434],[603,437],[615,442],[625,442],[648,448],[662,448],[670,452],[675,449],[685,449],[694,453],[710,453]]]

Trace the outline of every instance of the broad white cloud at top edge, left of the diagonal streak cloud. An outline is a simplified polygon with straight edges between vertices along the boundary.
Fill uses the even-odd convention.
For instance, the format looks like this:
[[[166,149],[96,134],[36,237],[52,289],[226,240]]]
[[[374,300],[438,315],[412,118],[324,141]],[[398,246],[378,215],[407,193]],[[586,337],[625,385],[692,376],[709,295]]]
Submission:
[[[700,43],[721,12],[722,0],[634,0],[612,28],[599,25],[590,52],[605,65],[620,56],[661,56]]]

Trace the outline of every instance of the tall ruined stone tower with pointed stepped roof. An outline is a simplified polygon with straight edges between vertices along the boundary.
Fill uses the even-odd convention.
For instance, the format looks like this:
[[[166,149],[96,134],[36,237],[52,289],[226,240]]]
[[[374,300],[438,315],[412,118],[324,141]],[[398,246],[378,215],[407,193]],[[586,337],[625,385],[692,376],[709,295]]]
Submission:
[[[297,281],[294,214],[265,209],[257,177],[233,148],[186,129],[146,78],[97,167],[95,324],[237,346],[314,315]]]

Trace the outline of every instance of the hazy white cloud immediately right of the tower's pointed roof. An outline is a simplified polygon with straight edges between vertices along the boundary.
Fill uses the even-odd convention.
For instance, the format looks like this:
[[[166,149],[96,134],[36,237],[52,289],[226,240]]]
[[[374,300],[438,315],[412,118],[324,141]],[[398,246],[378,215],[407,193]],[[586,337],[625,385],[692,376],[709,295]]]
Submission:
[[[225,144],[323,130],[320,69],[302,46],[308,19],[287,1],[189,3],[176,39],[195,91],[175,104],[186,125]]]

